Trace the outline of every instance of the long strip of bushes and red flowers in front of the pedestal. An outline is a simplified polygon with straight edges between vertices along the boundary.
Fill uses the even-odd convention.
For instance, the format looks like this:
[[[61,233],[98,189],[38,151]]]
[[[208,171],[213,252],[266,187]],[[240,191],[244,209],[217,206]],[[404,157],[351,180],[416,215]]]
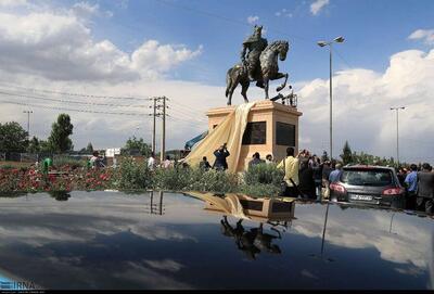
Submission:
[[[123,158],[117,168],[87,169],[63,165],[52,171],[47,175],[31,167],[0,169],[0,192],[154,189],[273,196],[279,193],[283,178],[283,171],[276,165],[253,166],[242,174],[181,166],[151,171],[145,163],[138,163],[132,157]],[[53,197],[64,199],[63,194]]]

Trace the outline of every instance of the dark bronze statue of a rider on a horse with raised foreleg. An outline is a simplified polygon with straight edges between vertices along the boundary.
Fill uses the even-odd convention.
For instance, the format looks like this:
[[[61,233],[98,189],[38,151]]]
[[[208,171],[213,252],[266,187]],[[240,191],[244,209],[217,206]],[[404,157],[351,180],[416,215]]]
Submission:
[[[228,105],[232,104],[232,94],[239,84],[244,102],[248,102],[246,93],[251,81],[256,81],[257,87],[264,88],[265,99],[269,99],[270,80],[285,78],[277,88],[278,92],[286,86],[289,75],[279,73],[278,57],[281,61],[286,59],[289,42],[279,40],[268,44],[267,39],[261,37],[261,31],[263,27],[255,25],[253,35],[243,42],[241,62],[229,68],[226,75]]]

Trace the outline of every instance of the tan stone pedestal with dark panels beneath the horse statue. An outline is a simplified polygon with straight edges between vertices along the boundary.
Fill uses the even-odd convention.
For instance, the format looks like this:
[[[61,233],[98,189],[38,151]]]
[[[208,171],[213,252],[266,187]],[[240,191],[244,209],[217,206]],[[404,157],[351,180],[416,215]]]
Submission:
[[[212,131],[234,108],[231,105],[209,110],[206,113],[208,130]],[[293,146],[298,151],[298,117],[302,115],[293,106],[269,100],[257,101],[248,114],[237,171],[246,169],[255,152],[259,152],[263,159],[271,154],[276,162],[280,162],[286,148]]]

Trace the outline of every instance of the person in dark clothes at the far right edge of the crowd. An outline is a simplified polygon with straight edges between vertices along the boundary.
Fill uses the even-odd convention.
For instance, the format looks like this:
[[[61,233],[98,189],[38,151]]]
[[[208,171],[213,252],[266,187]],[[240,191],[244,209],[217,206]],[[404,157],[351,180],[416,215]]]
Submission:
[[[434,174],[430,164],[423,164],[422,170],[418,172],[418,197],[416,200],[418,209],[426,214],[433,212],[434,197]]]

